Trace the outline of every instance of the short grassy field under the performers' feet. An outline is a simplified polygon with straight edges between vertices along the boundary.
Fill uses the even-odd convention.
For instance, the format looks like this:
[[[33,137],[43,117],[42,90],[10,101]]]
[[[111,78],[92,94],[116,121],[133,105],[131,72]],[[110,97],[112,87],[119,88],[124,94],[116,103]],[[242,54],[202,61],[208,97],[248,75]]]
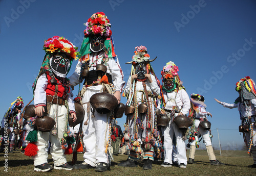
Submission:
[[[187,151],[187,156],[188,156]],[[224,150],[220,156],[219,150],[215,151],[216,158],[225,163],[224,166],[212,166],[209,163],[206,150],[196,150],[196,164],[188,164],[186,169],[179,167],[161,167],[162,161],[154,161],[152,170],[143,170],[143,163],[139,162],[139,166],[135,168],[120,167],[117,164],[127,159],[127,155],[114,156],[111,171],[96,172],[94,169],[87,170],[52,170],[50,172],[33,171],[33,159],[27,157],[19,151],[13,154],[8,153],[5,158],[3,153],[0,154],[0,175],[256,175],[256,168],[248,168],[253,164],[252,157],[241,150]],[[83,161],[83,154],[77,154],[77,164]],[[67,156],[68,163],[71,164],[73,155]],[[5,159],[8,159],[8,172],[4,169]],[[49,164],[53,165],[51,155],[49,155]]]

